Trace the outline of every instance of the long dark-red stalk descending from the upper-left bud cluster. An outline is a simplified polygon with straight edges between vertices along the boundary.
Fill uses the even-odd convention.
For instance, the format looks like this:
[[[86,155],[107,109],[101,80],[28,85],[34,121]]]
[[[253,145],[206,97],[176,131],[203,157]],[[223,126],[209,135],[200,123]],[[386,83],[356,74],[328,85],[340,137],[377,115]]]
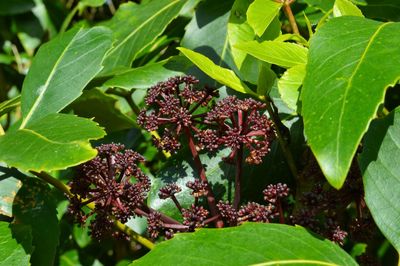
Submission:
[[[211,189],[210,184],[208,183],[207,176],[206,176],[206,170],[204,169],[203,164],[201,163],[199,153],[197,152],[196,145],[194,144],[193,136],[190,133],[190,129],[188,127],[185,127],[184,131],[185,131],[186,137],[189,140],[189,148],[190,148],[190,151],[192,153],[194,163],[195,163],[195,165],[197,167],[197,171],[199,173],[200,179],[202,181],[204,181],[204,182],[207,182],[207,184],[208,184],[208,186],[207,186],[207,190],[208,190],[208,192],[207,192],[207,201],[208,201],[208,206],[209,206],[210,211],[211,211],[211,215],[212,216],[219,215],[217,204],[215,202],[215,196],[214,196],[214,193],[213,193],[213,191]],[[215,226],[217,228],[224,227],[224,222],[221,220],[221,218],[219,218],[219,219],[217,219],[215,221]]]

